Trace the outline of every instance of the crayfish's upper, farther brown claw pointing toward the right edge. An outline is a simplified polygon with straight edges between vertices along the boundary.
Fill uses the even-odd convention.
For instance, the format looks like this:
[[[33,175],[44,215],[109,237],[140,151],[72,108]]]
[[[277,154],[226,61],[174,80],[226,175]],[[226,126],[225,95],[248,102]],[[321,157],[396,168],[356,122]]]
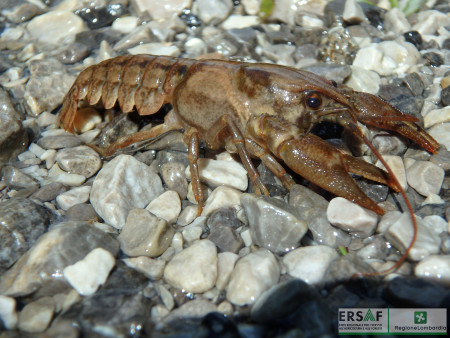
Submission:
[[[430,153],[439,150],[439,143],[423,130],[416,122],[419,120],[405,114],[378,96],[353,92],[351,104],[357,116],[355,118],[368,126],[394,131],[414,141]]]

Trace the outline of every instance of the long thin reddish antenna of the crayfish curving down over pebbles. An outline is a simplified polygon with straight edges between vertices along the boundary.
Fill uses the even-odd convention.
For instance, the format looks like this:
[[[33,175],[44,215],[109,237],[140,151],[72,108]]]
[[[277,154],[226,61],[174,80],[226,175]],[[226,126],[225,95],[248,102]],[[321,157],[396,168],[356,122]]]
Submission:
[[[355,128],[357,128],[357,127],[355,126]],[[411,251],[411,248],[414,246],[414,243],[416,242],[416,237],[417,237],[417,221],[416,221],[416,218],[414,216],[414,211],[413,211],[413,208],[411,206],[411,203],[409,202],[409,199],[406,196],[405,190],[401,187],[401,185],[400,185],[399,181],[397,180],[397,177],[395,177],[394,172],[392,171],[392,169],[389,167],[389,165],[383,159],[381,154],[375,149],[375,147],[372,145],[372,143],[367,139],[367,137],[365,137],[360,131],[357,134],[358,134],[358,136],[360,136],[362,138],[364,143],[367,144],[367,146],[370,148],[370,150],[373,152],[373,154],[384,165],[384,167],[386,168],[387,172],[389,173],[389,176],[391,176],[391,179],[392,179],[393,183],[398,187],[398,191],[400,192],[400,194],[402,195],[403,199],[405,200],[406,207],[408,208],[408,212],[411,215],[411,221],[412,221],[412,225],[413,225],[413,237],[411,239],[411,243],[409,243],[409,246],[406,248],[406,250],[403,253],[403,255],[400,257],[400,259],[397,261],[397,263],[395,263],[389,269],[382,270],[382,271],[377,271],[377,272],[355,273],[350,278],[387,275],[388,273],[397,270],[403,264],[403,262],[406,260],[406,258],[408,257],[409,252]]]

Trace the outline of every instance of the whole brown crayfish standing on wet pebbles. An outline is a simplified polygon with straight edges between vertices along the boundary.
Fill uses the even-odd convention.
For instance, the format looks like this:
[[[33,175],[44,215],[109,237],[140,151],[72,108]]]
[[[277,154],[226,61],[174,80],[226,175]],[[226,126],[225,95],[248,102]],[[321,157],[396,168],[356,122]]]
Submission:
[[[170,103],[173,109],[163,124],[123,136],[106,148],[94,149],[110,156],[136,142],[184,130],[199,214],[203,205],[197,166],[201,142],[212,150],[225,148],[239,154],[257,194],[269,193],[252,158],[260,159],[289,189],[294,180],[281,161],[323,189],[379,215],[384,210],[359,188],[349,173],[386,184],[400,191],[405,199],[406,195],[358,122],[396,132],[431,153],[439,149],[439,144],[416,123],[416,118],[379,97],[338,86],[307,71],[272,64],[119,56],[80,73],[63,102],[60,121],[64,129],[74,131],[82,124],[77,117],[82,100],[89,105],[101,100],[105,109],[118,101],[122,112],[129,113],[135,108],[140,115],[155,114]],[[340,124],[360,137],[388,172],[343,153],[311,133],[312,127],[321,122]],[[416,228],[414,217],[412,222]],[[406,258],[414,239],[415,235],[398,264]]]

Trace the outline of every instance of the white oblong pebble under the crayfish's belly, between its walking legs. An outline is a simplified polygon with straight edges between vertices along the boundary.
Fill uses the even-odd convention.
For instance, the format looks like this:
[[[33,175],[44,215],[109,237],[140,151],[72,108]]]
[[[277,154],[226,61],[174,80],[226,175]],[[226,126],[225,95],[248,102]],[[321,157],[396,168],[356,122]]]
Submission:
[[[198,171],[200,181],[208,184],[210,187],[226,185],[241,191],[247,190],[247,170],[236,161],[199,158]],[[186,177],[191,178],[189,167],[186,168]]]

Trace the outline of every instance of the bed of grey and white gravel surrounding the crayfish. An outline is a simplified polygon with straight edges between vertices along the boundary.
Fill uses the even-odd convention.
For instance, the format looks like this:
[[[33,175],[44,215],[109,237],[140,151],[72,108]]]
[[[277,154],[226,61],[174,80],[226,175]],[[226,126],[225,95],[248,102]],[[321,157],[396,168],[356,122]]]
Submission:
[[[0,336],[335,336],[341,307],[449,307],[450,5],[413,13],[353,0],[0,0]],[[404,6],[406,1],[400,1]],[[118,107],[57,125],[86,67],[123,54],[224,58],[309,70],[417,117],[430,154],[361,125],[405,189],[356,177],[378,216],[294,175],[202,148],[203,213],[179,132],[102,158],[162,121]],[[331,124],[315,134],[380,167]]]

